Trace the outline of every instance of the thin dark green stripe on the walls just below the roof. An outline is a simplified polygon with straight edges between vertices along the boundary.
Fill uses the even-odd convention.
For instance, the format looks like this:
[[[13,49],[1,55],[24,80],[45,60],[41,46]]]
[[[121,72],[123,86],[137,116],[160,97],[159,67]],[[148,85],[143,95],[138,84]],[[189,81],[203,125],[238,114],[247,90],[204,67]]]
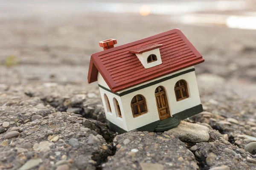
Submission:
[[[124,95],[129,94],[129,93],[132,93],[132,92],[134,92],[134,91],[138,91],[138,90],[141,90],[141,89],[143,89],[143,88],[147,88],[147,87],[149,87],[149,86],[151,86],[151,85],[155,85],[155,84],[157,84],[157,83],[164,82],[164,81],[166,81],[166,80],[168,80],[168,79],[173,79],[173,78],[175,78],[175,77],[181,76],[181,75],[183,75],[183,74],[187,74],[187,73],[192,72],[192,71],[195,71],[195,68],[191,68],[191,69],[189,69],[189,70],[182,71],[182,72],[177,73],[177,74],[173,74],[172,76],[168,76],[168,77],[165,77],[165,78],[163,78],[163,79],[159,79],[159,80],[156,80],[156,81],[154,81],[154,82],[150,82],[150,83],[148,83],[148,84],[146,84],[146,85],[142,85],[142,86],[140,86],[140,87],[133,88],[133,89],[131,89],[131,90],[124,91],[124,92],[122,92],[122,93],[113,93],[111,90],[109,90],[108,88],[103,87],[102,85],[99,85],[99,87],[100,87],[100,88],[103,88],[104,90],[109,91],[109,92],[111,92],[111,93],[113,93],[113,94],[115,94],[115,95],[117,95],[117,96],[124,96]]]

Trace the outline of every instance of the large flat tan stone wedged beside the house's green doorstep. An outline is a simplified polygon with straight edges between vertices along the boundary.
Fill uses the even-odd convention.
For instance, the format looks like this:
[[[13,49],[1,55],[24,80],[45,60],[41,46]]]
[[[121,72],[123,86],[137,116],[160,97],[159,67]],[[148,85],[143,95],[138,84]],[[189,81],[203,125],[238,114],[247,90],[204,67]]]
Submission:
[[[178,127],[170,129],[165,133],[171,133],[183,142],[207,142],[210,138],[208,127],[185,121],[180,121],[180,125],[178,125]]]

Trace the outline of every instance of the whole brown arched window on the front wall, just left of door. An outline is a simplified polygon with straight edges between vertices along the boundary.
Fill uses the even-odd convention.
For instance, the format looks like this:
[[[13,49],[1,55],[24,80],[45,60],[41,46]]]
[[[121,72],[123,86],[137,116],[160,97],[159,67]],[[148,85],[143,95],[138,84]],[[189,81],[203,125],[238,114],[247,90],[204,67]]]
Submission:
[[[140,116],[148,112],[145,97],[136,95],[131,100],[131,110],[134,117]]]

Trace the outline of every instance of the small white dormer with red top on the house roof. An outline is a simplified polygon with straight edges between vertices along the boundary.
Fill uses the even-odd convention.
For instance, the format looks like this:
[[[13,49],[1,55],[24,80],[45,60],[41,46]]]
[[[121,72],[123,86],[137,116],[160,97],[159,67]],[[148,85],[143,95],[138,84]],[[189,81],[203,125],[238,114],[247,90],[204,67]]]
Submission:
[[[159,50],[159,48],[162,46],[162,44],[148,44],[134,48],[129,52],[132,54],[136,54],[141,64],[145,68],[151,68],[156,65],[162,64],[162,59]]]

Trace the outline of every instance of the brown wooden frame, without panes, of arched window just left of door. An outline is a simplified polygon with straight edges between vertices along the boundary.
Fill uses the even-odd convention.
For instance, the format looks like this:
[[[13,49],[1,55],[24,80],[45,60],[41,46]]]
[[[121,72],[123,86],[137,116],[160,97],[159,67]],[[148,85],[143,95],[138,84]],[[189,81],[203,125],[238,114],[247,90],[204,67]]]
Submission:
[[[142,98],[142,100],[141,101],[139,101],[138,100],[138,96],[140,96],[141,98]],[[133,99],[135,98],[135,102],[133,102],[132,103],[132,101],[133,101]],[[141,112],[140,111],[140,105],[141,104],[143,104],[144,105],[144,112]],[[133,109],[133,107],[136,107],[137,108],[137,111],[138,111],[138,114],[134,114],[134,109]],[[132,111],[132,115],[133,115],[133,117],[134,118],[136,118],[136,117],[138,117],[138,116],[141,116],[141,115],[143,115],[143,114],[145,114],[145,113],[148,113],[148,107],[147,107],[147,102],[146,102],[146,99],[145,99],[145,97],[143,96],[143,95],[141,95],[141,94],[137,94],[136,96],[134,96],[132,99],[131,99],[131,111]]]

